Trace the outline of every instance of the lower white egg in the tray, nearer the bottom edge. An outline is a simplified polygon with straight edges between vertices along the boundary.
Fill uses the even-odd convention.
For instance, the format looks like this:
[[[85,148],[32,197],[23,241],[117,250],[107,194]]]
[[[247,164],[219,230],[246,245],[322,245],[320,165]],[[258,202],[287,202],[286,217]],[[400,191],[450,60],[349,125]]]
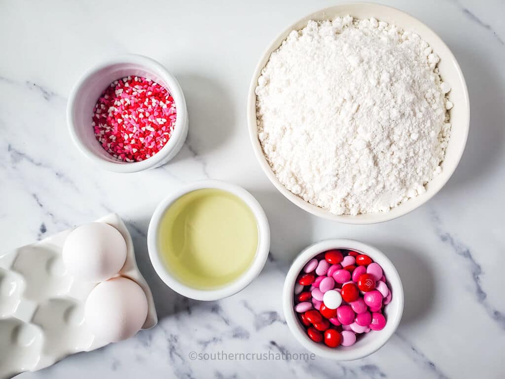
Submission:
[[[84,320],[100,342],[118,342],[132,337],[147,317],[147,298],[133,280],[115,277],[89,293]]]

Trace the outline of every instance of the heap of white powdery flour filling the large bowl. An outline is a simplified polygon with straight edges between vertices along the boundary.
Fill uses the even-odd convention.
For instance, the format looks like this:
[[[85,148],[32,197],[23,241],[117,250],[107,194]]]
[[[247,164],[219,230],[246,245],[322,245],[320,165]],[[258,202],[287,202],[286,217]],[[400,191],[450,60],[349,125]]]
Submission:
[[[450,132],[438,60],[417,34],[375,19],[292,31],[256,88],[277,178],[335,214],[388,211],[425,192]]]

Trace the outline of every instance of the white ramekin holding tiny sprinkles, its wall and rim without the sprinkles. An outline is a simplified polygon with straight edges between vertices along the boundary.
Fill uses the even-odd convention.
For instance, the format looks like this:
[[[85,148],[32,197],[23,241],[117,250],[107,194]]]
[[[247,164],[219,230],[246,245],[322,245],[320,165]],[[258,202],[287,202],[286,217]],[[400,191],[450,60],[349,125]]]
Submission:
[[[114,80],[141,76],[167,88],[177,110],[174,131],[167,144],[154,156],[140,162],[121,162],[107,153],[95,138],[91,126],[93,107],[104,89]],[[159,167],[175,157],[188,133],[188,115],[182,89],[175,77],[157,61],[141,55],[124,55],[88,70],[70,92],[67,123],[77,148],[98,167],[115,172],[137,172]]]

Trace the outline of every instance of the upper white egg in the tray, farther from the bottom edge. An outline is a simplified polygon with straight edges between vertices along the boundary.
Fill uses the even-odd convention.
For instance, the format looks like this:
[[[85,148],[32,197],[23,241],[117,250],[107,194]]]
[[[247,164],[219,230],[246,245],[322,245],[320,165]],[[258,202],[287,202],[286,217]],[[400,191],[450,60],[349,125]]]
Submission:
[[[126,242],[113,226],[92,222],[75,228],[65,240],[63,262],[83,281],[103,281],[116,275],[126,261]]]

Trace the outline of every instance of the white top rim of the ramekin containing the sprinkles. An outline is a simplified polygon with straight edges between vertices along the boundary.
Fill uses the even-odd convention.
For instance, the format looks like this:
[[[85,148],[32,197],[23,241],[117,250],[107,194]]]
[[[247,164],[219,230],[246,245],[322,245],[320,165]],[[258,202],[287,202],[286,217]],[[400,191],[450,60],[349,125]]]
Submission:
[[[117,64],[136,64],[142,66],[146,71],[150,73],[156,73],[157,76],[162,77],[162,79],[166,82],[167,89],[170,91],[175,103],[175,107],[177,110],[177,117],[175,120],[174,131],[172,133],[169,141],[163,146],[163,148],[146,160],[140,162],[114,162],[108,161],[94,152],[92,152],[88,146],[82,141],[77,133],[77,126],[74,120],[75,110],[77,106],[77,96],[81,89],[84,88],[86,83],[93,78],[93,76],[107,67],[114,66]],[[120,79],[120,78],[118,78]],[[90,116],[91,120],[91,116]],[[143,56],[139,54],[123,54],[113,58],[107,58],[102,62],[98,62],[88,70],[86,70],[77,82],[72,87],[68,102],[67,102],[67,124],[70,132],[70,136],[74,141],[74,144],[77,146],[78,150],[85,155],[88,159],[90,159],[96,165],[114,172],[120,173],[132,173],[138,172],[142,170],[146,170],[149,168],[157,167],[163,164],[164,160],[170,153],[177,149],[178,142],[181,138],[185,138],[187,134],[187,107],[186,101],[184,99],[184,93],[182,92],[182,88],[175,78],[174,75],[170,73],[170,71],[165,68],[158,61]],[[91,127],[91,124],[90,124]],[[114,158],[113,158],[114,159]]]

